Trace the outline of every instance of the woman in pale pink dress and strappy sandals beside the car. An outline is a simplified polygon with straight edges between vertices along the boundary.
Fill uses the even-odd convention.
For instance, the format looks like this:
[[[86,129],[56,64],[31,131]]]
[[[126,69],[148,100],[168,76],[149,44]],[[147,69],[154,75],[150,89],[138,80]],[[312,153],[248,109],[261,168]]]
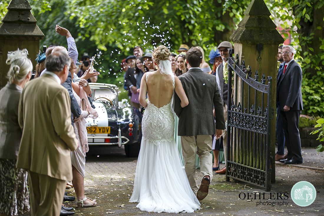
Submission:
[[[71,61],[70,72],[72,78],[74,76],[76,66]],[[98,117],[97,112],[91,107],[87,95],[90,94],[91,89],[86,79],[81,79],[80,82],[72,82],[72,90],[76,101],[81,104],[81,99],[86,103],[86,110],[81,111],[81,118],[77,119],[74,123],[74,132],[77,140],[79,141],[79,147],[71,151],[71,162],[72,162],[72,174],[73,174],[73,186],[76,195],[76,205],[78,207],[92,207],[97,202],[91,198],[87,198],[84,195],[84,175],[85,175],[85,164],[86,164],[86,152],[89,151],[88,138],[87,138],[87,127],[86,120],[87,116],[96,119]]]

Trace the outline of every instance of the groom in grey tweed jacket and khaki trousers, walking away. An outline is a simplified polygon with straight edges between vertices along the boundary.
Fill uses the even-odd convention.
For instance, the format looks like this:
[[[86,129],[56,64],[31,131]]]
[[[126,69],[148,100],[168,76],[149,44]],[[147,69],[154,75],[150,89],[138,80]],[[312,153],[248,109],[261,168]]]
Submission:
[[[208,194],[209,184],[213,177],[212,138],[218,138],[225,129],[223,101],[221,99],[216,77],[204,73],[200,68],[203,54],[192,47],[186,54],[188,72],[179,76],[181,84],[189,100],[189,105],[181,108],[180,99],[175,97],[175,113],[179,116],[178,136],[181,136],[182,155],[185,171],[192,191],[198,200]],[[216,126],[213,106],[215,109]],[[196,148],[200,158],[200,171],[203,174],[201,185],[196,184]]]

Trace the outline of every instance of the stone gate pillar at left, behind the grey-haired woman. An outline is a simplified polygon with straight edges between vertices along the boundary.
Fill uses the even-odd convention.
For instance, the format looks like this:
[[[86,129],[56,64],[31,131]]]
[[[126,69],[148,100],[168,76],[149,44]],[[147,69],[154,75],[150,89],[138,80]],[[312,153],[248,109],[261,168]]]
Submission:
[[[8,12],[0,25],[0,88],[8,81],[9,65],[6,64],[8,51],[26,48],[35,69],[36,55],[39,53],[43,32],[36,25],[37,20],[30,12],[28,0],[11,0]]]

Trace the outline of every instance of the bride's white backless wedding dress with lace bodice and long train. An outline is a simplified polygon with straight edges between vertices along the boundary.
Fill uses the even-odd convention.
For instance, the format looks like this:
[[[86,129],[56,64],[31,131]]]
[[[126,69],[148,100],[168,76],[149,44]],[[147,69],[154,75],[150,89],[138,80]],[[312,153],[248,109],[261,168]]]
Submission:
[[[148,75],[146,73],[146,81]],[[171,76],[174,88],[174,75]],[[200,203],[180,160],[170,103],[157,108],[148,101],[145,108],[130,202],[138,202],[136,207],[148,212],[194,212],[200,209]]]

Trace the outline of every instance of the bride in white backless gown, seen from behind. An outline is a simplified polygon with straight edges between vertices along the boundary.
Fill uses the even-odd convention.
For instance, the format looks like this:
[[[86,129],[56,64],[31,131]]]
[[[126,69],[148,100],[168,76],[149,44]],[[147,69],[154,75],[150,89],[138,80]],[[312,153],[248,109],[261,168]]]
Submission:
[[[172,73],[169,56],[167,47],[158,46],[152,54],[158,70],[145,73],[141,80],[139,102],[146,109],[130,202],[138,202],[136,207],[148,212],[194,212],[200,209],[200,203],[191,190],[174,140],[174,90],[181,107],[189,102],[179,78]]]

